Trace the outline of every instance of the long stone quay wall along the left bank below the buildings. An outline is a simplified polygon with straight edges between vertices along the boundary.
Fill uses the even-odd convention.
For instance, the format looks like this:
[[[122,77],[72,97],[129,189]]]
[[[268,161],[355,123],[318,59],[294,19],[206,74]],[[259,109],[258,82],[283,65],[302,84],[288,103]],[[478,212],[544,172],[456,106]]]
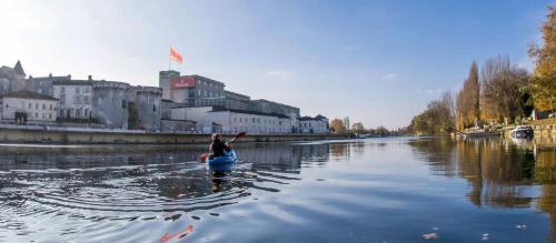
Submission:
[[[231,139],[232,135],[224,135]],[[249,134],[241,142],[288,142],[346,140],[351,134]],[[137,133],[106,131],[49,131],[0,128],[0,143],[57,143],[57,144],[193,144],[207,143],[209,134]]]

